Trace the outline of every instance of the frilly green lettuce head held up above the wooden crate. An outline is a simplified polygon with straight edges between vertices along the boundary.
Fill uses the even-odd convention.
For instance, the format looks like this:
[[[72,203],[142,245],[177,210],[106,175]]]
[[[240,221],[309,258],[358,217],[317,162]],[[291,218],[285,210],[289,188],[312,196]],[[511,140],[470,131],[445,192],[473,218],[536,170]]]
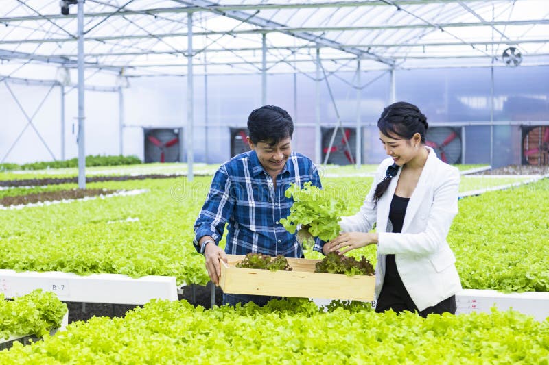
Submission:
[[[290,215],[280,220],[287,231],[293,234],[298,225],[305,225],[309,233],[320,240],[328,241],[338,236],[338,221],[344,204],[334,194],[306,182],[303,189],[296,184],[290,184],[285,196],[294,199]]]

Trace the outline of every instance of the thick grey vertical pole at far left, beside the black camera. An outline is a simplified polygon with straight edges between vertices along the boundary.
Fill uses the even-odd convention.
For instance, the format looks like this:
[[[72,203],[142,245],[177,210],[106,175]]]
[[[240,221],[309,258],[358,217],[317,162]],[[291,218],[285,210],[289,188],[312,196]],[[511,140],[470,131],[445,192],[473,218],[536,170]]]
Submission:
[[[86,188],[84,139],[84,0],[78,0],[78,188]]]

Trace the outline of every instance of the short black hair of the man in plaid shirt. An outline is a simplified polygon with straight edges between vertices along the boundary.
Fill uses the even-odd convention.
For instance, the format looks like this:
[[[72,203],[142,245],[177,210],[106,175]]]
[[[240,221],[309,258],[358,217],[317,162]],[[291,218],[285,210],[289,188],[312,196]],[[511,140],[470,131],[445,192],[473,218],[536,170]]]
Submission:
[[[266,142],[271,146],[292,137],[294,122],[288,112],[273,105],[257,108],[248,116],[248,135],[254,144]]]

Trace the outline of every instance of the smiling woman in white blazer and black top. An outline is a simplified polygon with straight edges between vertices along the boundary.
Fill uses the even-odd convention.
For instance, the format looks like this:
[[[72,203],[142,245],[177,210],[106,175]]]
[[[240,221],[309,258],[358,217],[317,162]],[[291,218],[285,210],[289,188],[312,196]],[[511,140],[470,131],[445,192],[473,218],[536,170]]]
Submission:
[[[446,236],[458,212],[459,171],[425,146],[428,123],[417,106],[389,105],[377,127],[390,158],[360,212],[342,218],[343,233],[323,253],[377,244],[376,312],[455,314],[461,284]],[[374,223],[377,232],[369,232]]]

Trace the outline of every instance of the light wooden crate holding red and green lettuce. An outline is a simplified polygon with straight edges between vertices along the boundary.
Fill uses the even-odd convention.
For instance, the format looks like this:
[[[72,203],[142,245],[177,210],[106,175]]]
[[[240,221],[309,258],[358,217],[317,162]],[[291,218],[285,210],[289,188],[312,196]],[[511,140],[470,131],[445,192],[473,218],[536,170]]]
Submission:
[[[221,262],[220,287],[227,294],[273,295],[373,301],[375,276],[315,273],[320,260],[288,258],[292,271],[237,268],[244,255],[227,255]]]

